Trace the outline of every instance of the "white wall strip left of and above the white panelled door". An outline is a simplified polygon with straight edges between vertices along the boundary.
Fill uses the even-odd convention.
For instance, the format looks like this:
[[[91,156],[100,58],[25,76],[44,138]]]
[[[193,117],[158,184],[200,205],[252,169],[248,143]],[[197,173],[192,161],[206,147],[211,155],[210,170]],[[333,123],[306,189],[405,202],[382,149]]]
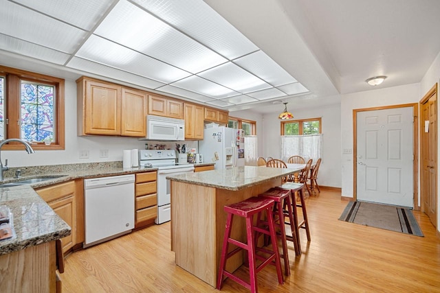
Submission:
[[[342,150],[353,153],[353,109],[419,102],[420,84],[349,93],[341,97]],[[342,196],[353,197],[353,154],[342,154]]]

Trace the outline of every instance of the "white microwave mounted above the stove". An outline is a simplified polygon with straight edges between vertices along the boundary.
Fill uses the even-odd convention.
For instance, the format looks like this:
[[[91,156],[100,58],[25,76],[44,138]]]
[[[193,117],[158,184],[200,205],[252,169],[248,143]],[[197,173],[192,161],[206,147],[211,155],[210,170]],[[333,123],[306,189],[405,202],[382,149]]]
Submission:
[[[146,139],[151,141],[184,141],[185,120],[147,115]]]

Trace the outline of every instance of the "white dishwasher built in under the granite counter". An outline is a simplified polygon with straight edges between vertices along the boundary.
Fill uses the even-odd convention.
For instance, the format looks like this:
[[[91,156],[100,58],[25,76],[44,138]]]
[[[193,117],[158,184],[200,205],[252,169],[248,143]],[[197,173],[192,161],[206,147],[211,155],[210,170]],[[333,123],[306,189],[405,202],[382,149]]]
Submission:
[[[83,247],[129,233],[135,226],[135,176],[85,179],[84,209]]]

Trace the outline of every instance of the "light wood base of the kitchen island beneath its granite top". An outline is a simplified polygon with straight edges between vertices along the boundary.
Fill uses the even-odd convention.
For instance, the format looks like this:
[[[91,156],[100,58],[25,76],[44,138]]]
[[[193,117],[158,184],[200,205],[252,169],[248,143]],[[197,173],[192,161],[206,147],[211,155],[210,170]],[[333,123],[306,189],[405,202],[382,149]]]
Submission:
[[[215,287],[227,218],[223,208],[279,185],[281,179],[273,179],[232,191],[171,180],[171,250],[177,266]],[[234,216],[231,236],[246,242],[244,218]],[[234,248],[230,245],[230,251]],[[226,270],[236,270],[244,259],[244,251],[236,253],[228,259]]]

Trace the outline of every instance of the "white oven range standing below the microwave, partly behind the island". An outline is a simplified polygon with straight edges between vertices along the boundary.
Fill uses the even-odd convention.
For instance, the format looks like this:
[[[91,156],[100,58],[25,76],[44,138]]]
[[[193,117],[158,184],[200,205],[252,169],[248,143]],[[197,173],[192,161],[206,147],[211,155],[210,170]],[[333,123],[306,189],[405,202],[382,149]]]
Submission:
[[[192,164],[177,164],[175,150],[139,150],[141,167],[157,167],[157,218],[156,224],[171,220],[170,180],[166,176],[194,172]]]

